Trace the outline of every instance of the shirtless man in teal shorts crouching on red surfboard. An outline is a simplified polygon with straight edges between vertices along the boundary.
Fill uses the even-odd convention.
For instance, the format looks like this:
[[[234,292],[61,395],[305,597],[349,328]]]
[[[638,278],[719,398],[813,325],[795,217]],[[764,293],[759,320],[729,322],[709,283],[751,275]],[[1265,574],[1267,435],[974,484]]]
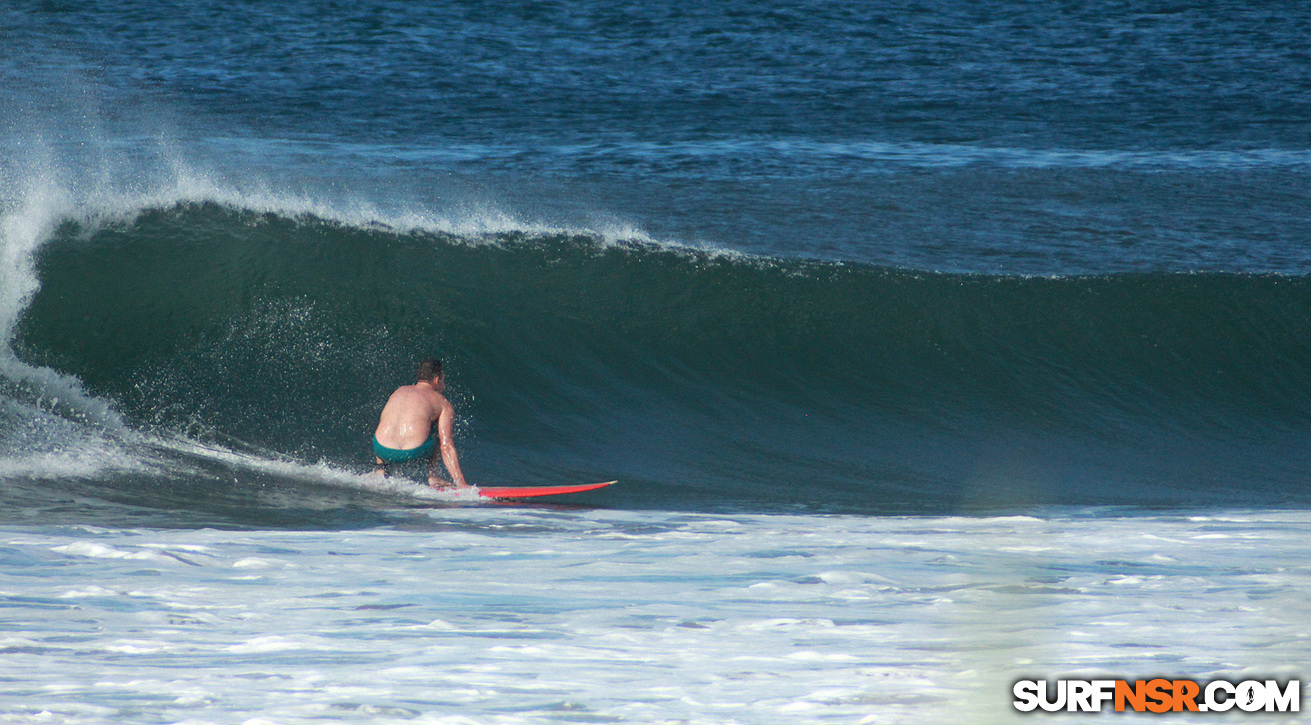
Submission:
[[[448,488],[451,484],[437,475],[437,460],[440,456],[455,488],[469,488],[460,472],[460,458],[455,455],[455,409],[442,395],[444,389],[442,361],[421,362],[418,383],[396,388],[383,406],[378,431],[374,433],[378,473],[385,476],[391,463],[427,458],[427,485]]]

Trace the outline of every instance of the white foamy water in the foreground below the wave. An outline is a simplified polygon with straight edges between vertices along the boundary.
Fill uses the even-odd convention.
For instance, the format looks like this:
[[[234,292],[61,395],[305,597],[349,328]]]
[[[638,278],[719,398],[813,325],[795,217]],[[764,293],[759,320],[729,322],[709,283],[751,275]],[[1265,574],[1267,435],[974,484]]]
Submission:
[[[430,515],[0,531],[0,721],[1020,722],[1021,675],[1311,661],[1306,513]]]

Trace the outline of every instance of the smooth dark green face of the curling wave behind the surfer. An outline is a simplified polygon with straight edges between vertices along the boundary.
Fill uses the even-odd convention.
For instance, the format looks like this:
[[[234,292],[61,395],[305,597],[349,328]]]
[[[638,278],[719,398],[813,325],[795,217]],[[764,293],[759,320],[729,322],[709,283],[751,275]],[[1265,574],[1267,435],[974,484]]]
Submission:
[[[1306,277],[928,274],[216,203],[68,220],[37,271],[22,361],[271,459],[363,472],[383,400],[440,355],[475,481],[868,513],[1311,498]]]

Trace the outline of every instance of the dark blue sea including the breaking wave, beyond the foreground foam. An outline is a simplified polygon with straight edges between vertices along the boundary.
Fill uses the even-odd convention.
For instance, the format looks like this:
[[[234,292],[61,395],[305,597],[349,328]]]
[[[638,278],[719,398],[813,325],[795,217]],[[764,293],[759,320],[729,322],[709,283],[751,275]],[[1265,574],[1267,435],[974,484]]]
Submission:
[[[160,441],[362,471],[430,354],[473,480],[625,481],[590,503],[1311,500],[1304,4],[0,28],[10,509],[368,519]]]

